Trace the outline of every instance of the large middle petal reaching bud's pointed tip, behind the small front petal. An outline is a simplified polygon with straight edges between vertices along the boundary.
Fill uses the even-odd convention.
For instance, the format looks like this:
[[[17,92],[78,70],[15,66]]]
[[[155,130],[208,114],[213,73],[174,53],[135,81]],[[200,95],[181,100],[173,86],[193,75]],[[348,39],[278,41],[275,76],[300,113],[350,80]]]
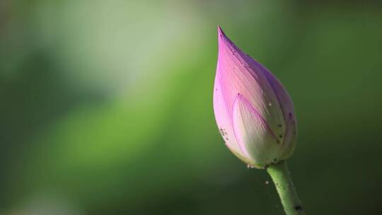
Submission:
[[[272,130],[278,124],[285,129],[283,112],[279,100],[264,74],[265,67],[241,51],[219,28],[219,57],[216,75],[219,74],[224,88],[226,103],[232,104],[238,93],[248,98],[250,104]],[[231,112],[228,106],[228,112]]]

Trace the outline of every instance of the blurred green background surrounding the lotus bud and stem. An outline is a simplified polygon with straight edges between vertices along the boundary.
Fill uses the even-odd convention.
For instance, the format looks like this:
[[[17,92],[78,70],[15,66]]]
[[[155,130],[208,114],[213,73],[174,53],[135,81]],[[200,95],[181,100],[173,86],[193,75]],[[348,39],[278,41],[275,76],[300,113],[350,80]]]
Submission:
[[[381,214],[377,1],[0,1],[0,214],[283,214],[214,121],[216,26],[294,100],[307,214]]]

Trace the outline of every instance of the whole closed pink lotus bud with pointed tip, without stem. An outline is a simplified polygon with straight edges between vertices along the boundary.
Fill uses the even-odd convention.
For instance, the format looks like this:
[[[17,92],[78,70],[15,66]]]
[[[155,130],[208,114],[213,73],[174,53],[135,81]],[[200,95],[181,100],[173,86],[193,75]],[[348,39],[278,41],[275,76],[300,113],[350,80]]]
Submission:
[[[296,146],[296,117],[287,91],[219,26],[218,37],[214,112],[226,146],[253,168],[289,158]]]

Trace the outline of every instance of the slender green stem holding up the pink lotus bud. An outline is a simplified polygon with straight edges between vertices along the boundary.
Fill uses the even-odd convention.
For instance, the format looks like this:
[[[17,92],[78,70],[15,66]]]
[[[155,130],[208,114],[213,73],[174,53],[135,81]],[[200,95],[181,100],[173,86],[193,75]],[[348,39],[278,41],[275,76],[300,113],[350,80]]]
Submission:
[[[305,215],[301,201],[297,196],[296,188],[294,188],[289,174],[286,161],[275,163],[267,168],[274,185],[276,186],[279,197],[284,206],[284,211],[287,215]]]

